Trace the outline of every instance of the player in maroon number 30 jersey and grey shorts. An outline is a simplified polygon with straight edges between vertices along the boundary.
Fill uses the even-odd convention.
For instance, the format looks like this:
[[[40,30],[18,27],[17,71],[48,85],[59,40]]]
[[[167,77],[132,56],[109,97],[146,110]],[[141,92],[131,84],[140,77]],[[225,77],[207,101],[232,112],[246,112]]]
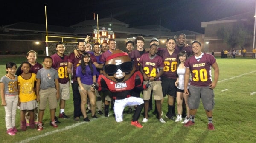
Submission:
[[[188,104],[190,108],[189,122],[184,126],[192,126],[195,124],[194,118],[196,111],[200,104],[200,98],[208,117],[208,129],[214,130],[212,124],[212,109],[214,108],[214,93],[213,89],[216,87],[219,75],[218,64],[214,56],[202,53],[201,43],[194,41],[192,43],[192,50],[194,56],[190,57],[184,63],[186,67],[184,87],[189,84],[189,74],[191,80],[188,89],[184,89],[184,93],[189,95]],[[214,69],[214,81],[212,81],[211,67]]]

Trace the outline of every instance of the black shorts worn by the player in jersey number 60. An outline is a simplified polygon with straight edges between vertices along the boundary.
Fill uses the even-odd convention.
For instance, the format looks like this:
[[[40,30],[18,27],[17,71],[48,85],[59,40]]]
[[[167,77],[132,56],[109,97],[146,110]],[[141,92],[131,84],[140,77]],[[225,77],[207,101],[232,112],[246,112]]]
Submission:
[[[171,79],[166,76],[161,76],[161,85],[163,89],[163,96],[165,97],[166,94],[172,97],[176,97],[177,87],[175,86],[176,79]]]

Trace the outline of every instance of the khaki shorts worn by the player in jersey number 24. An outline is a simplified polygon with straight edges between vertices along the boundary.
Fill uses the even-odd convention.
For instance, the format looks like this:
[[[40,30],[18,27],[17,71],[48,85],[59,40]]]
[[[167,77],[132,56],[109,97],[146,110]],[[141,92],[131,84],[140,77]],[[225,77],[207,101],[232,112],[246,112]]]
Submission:
[[[143,85],[147,84],[148,81],[143,81]],[[163,99],[163,91],[161,81],[152,81],[151,87],[143,90],[143,100],[150,99],[150,93],[153,90],[154,100]]]

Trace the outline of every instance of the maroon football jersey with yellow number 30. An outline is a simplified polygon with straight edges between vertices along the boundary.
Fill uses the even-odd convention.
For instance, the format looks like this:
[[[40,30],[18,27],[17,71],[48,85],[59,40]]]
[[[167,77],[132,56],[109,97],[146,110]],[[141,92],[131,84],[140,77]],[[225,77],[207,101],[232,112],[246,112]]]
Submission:
[[[190,85],[206,87],[212,83],[211,66],[216,62],[214,56],[204,53],[202,58],[197,61],[195,56],[190,57],[184,63],[191,73]]]

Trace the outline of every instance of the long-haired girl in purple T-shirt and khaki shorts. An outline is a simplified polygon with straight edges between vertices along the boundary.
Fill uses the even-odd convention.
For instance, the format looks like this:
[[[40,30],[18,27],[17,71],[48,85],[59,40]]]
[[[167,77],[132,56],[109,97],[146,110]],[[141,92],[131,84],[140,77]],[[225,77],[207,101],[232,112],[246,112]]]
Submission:
[[[90,99],[92,118],[98,118],[95,115],[95,90],[91,86],[96,82],[96,67],[92,64],[90,54],[84,52],[81,56],[81,64],[76,69],[76,77],[78,82],[78,90],[81,95],[81,112],[84,116],[84,121],[89,122],[86,115],[87,96]]]

